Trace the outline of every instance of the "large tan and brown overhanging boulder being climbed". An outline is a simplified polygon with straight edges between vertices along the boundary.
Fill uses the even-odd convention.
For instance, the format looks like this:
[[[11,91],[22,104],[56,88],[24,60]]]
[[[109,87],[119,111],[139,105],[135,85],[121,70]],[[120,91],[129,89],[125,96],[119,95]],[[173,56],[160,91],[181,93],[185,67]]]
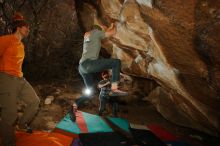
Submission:
[[[78,12],[86,29],[116,23],[108,52],[124,73],[161,86],[148,100],[165,118],[219,136],[219,8],[214,0],[85,0]]]

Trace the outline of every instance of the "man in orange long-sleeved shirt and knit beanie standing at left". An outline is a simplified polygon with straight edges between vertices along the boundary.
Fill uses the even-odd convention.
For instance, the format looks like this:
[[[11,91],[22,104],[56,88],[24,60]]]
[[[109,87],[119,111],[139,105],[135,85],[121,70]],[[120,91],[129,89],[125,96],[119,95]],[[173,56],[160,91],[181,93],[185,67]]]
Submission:
[[[29,35],[29,31],[23,16],[16,13],[12,34],[0,36],[0,141],[3,146],[15,145],[17,100],[26,104],[18,122],[20,128],[27,128],[39,108],[40,100],[22,73],[25,56],[22,39]]]

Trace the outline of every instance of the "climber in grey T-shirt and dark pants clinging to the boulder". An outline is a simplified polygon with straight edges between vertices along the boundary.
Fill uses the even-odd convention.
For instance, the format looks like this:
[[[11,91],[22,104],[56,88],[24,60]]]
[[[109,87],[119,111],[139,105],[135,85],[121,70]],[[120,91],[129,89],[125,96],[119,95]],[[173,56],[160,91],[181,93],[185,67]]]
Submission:
[[[111,96],[126,96],[128,93],[118,88],[120,80],[121,60],[115,58],[99,58],[101,49],[101,40],[113,36],[116,33],[114,23],[106,27],[99,23],[94,25],[89,32],[84,35],[83,53],[79,61],[79,73],[83,78],[87,89],[94,89],[93,74],[103,70],[112,70]],[[89,95],[91,97],[91,95]],[[86,96],[80,97],[76,104],[79,106],[82,99],[88,99]]]

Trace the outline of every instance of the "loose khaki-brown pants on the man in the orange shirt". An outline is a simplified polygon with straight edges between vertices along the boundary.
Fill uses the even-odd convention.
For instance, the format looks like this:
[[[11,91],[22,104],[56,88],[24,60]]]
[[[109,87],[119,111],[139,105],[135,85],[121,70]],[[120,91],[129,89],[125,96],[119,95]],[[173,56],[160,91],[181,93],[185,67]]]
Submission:
[[[14,124],[17,119],[17,100],[26,104],[19,125],[29,123],[36,114],[39,98],[25,78],[0,73],[0,137],[3,146],[15,143]]]

